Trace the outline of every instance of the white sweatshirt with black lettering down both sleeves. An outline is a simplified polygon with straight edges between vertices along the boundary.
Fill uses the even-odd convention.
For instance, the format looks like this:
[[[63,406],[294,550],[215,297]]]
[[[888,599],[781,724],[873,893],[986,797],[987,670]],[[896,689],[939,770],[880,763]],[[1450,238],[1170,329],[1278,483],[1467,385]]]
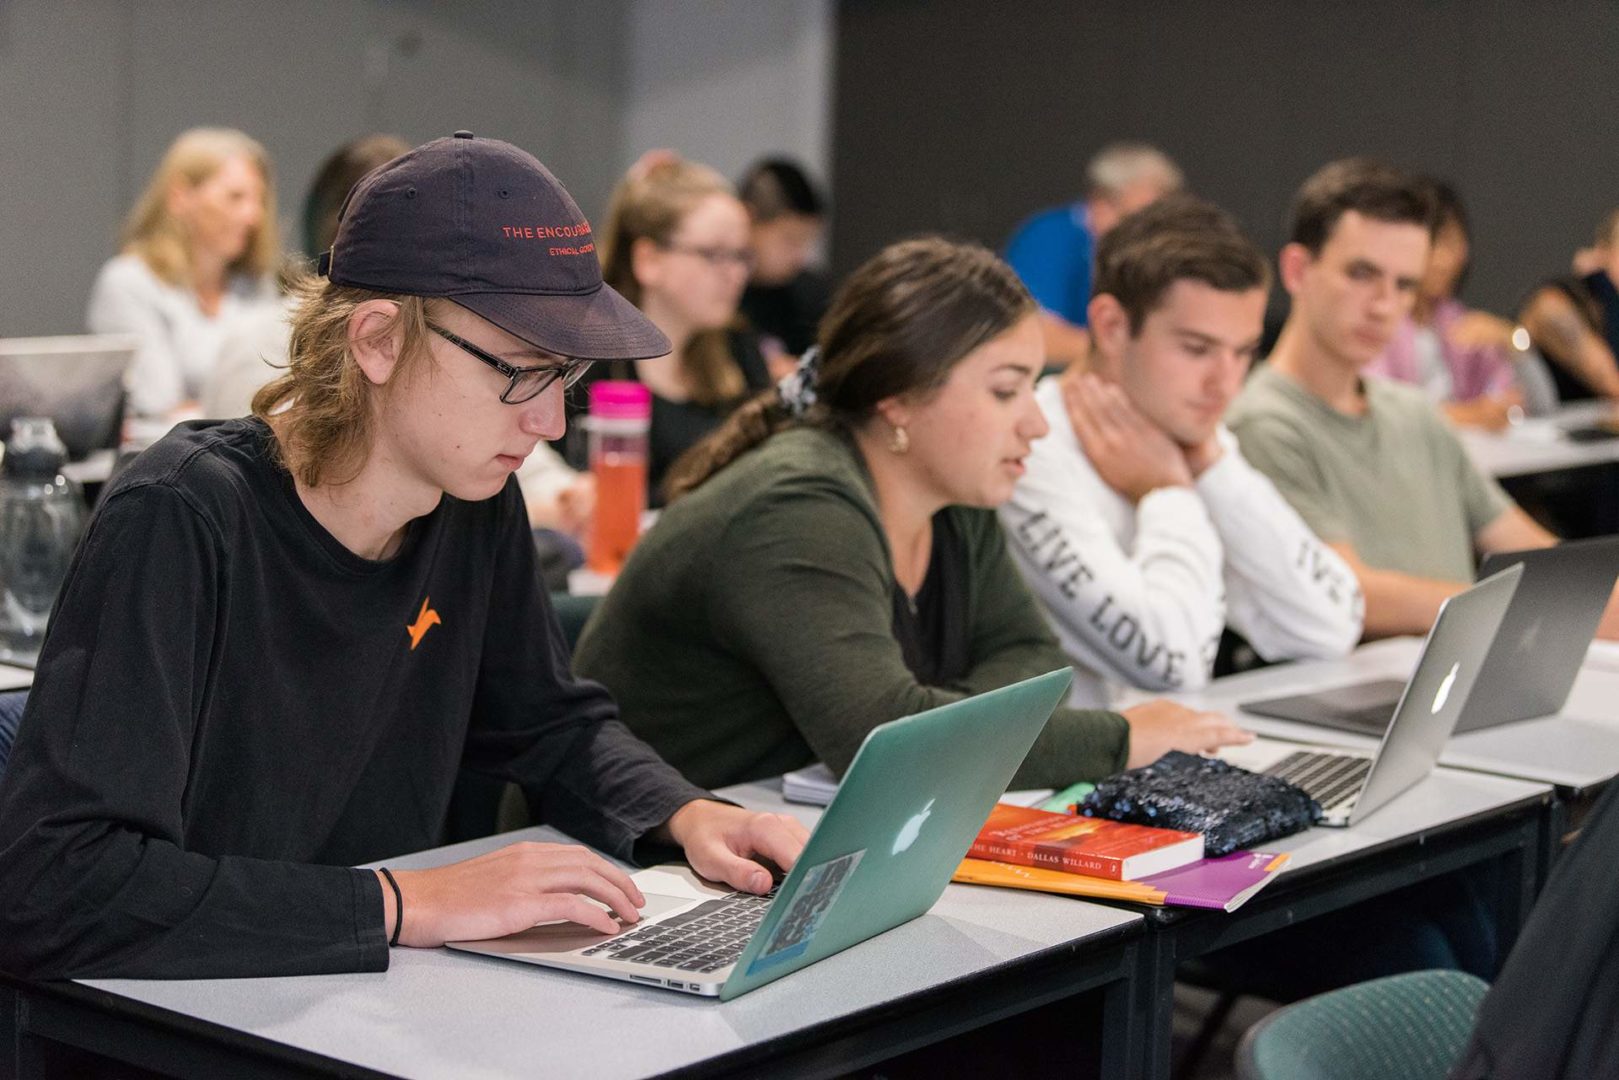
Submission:
[[[1091,466],[1057,379],[1036,390],[1051,434],[1001,508],[1009,549],[1073,661],[1072,704],[1124,687],[1208,683],[1230,623],[1268,659],[1344,656],[1360,640],[1353,572],[1323,544],[1224,427],[1193,487],[1132,505]]]

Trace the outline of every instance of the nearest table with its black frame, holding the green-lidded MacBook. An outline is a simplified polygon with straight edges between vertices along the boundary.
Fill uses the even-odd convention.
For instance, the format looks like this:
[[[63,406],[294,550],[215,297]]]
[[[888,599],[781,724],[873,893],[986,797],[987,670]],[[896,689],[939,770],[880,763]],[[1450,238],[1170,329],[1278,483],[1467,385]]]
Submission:
[[[525,829],[387,865],[440,865],[513,839],[565,837]],[[826,1077],[1090,994],[1103,1038],[1077,1046],[1073,1064],[1083,1070],[1088,1054],[1101,1075],[1140,1075],[1125,1025],[1143,921],[949,886],[929,913],[724,1004],[447,949],[395,949],[380,973],[5,980],[15,1007],[0,1002],[0,1046],[16,1046],[28,1078],[53,1075],[63,1048],[181,1077]]]

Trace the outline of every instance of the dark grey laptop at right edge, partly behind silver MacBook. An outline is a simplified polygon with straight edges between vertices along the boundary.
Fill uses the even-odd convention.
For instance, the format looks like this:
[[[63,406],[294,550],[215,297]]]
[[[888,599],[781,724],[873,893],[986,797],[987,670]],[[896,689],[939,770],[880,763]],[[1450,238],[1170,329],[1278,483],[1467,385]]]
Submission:
[[[1489,646],[1457,732],[1562,709],[1619,578],[1619,536],[1486,555],[1478,578],[1511,565],[1523,567],[1523,580]],[[1405,683],[1397,678],[1379,678],[1243,708],[1260,716],[1381,735],[1404,690]]]

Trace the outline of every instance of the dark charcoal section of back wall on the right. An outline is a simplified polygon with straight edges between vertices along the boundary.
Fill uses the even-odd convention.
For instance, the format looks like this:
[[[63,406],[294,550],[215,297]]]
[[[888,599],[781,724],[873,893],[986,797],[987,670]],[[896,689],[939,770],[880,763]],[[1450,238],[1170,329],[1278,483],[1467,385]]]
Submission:
[[[1619,204],[1613,0],[843,0],[837,39],[840,269],[923,230],[999,246],[1119,138],[1273,251],[1332,157],[1449,176],[1496,309]]]

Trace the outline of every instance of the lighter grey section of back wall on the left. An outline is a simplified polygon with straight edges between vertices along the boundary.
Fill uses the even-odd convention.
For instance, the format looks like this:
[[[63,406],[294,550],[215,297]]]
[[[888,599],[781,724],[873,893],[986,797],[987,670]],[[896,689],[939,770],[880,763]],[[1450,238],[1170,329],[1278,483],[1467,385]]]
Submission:
[[[832,0],[0,0],[0,337],[73,334],[164,149],[257,138],[296,241],[319,162],[366,131],[471,128],[593,219],[641,151],[827,175]]]

